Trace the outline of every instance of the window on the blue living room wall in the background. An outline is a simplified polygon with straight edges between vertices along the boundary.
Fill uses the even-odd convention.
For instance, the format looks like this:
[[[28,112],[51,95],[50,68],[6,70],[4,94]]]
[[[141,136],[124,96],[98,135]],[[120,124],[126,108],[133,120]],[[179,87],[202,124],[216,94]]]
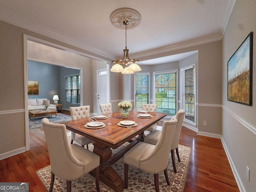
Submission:
[[[65,78],[66,103],[80,103],[80,75]]]

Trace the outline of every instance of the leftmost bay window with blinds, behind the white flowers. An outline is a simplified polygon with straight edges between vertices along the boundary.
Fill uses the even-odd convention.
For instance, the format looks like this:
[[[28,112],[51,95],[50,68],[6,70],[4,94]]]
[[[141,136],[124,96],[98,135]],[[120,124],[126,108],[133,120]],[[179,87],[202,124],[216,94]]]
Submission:
[[[141,108],[142,103],[149,103],[149,73],[136,73],[135,82],[135,108]]]

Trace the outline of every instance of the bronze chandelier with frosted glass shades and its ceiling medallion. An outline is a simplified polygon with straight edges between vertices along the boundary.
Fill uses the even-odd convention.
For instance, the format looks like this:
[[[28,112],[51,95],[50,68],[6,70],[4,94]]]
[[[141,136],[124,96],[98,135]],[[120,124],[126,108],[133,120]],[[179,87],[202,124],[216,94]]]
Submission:
[[[120,8],[112,12],[112,14],[110,15],[110,20],[115,27],[120,29],[125,28],[125,49],[123,50],[124,56],[120,60],[112,61],[114,65],[112,66],[110,71],[121,72],[122,74],[133,74],[134,72],[140,71],[140,66],[136,64],[136,62],[138,62],[139,60],[129,58],[129,49],[127,49],[126,37],[127,29],[134,28],[140,23],[140,13],[134,9]],[[125,65],[125,68],[123,68],[122,65]]]

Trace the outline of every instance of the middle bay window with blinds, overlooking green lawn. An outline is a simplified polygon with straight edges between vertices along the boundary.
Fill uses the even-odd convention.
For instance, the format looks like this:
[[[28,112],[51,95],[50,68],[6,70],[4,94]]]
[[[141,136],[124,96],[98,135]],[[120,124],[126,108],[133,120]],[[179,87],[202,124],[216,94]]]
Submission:
[[[154,72],[154,97],[157,104],[156,112],[168,115],[176,114],[177,70]]]

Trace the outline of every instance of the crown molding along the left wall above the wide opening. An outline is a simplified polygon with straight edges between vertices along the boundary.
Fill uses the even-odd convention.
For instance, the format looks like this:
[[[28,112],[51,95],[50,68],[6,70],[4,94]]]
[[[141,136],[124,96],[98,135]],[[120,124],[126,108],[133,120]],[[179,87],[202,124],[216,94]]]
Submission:
[[[106,58],[114,58],[114,56],[112,56],[112,55],[110,55],[106,52],[100,51],[100,50],[95,49],[95,48],[91,48],[89,46],[86,46],[84,44],[76,42],[76,41],[74,41],[70,38],[66,38],[66,37],[64,37],[64,36],[62,36],[58,33],[52,32],[51,30],[42,28],[38,25],[31,25],[30,23],[26,22],[25,20],[17,18],[15,16],[11,15],[11,14],[5,14],[4,12],[2,12],[2,10],[0,10],[0,20],[2,20],[4,22],[8,22],[10,24],[13,24],[15,26],[24,28],[26,30],[30,30],[32,32],[36,32],[38,34],[53,38],[55,40],[70,44],[72,46],[76,46],[78,48],[81,48],[81,49],[84,49],[86,51],[92,52],[94,54],[98,54],[98,55],[104,56]]]

